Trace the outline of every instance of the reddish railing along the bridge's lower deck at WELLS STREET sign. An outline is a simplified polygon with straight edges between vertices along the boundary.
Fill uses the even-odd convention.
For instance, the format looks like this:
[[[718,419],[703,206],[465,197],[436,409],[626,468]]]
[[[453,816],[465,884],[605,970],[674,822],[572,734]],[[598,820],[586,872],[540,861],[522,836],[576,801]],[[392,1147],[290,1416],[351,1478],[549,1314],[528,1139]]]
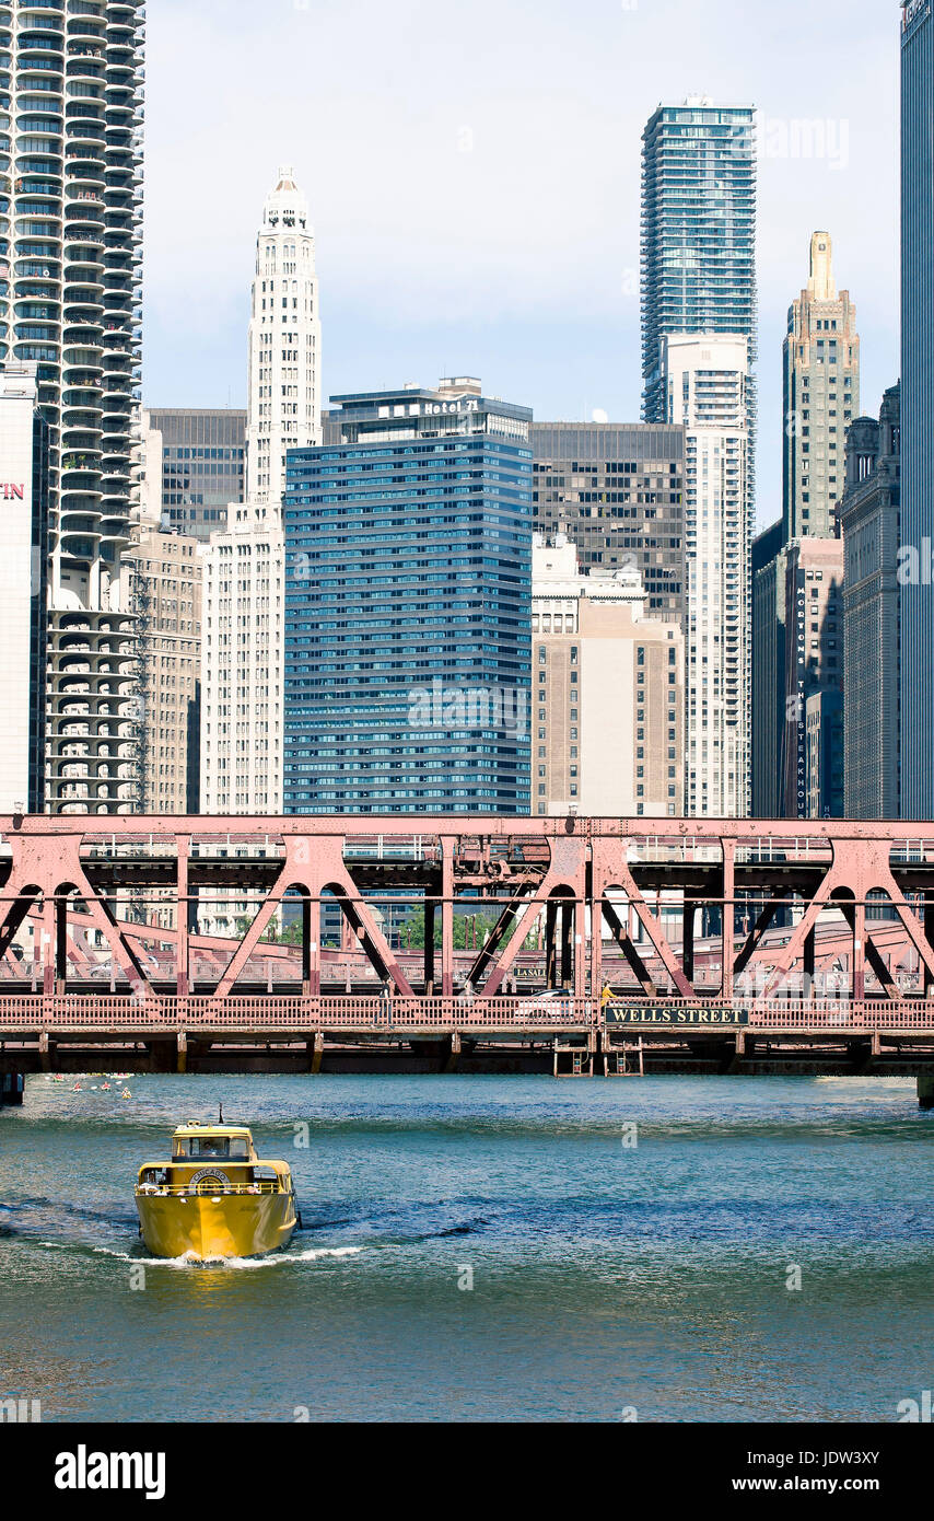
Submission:
[[[516,995],[502,998],[300,996],[100,996],[9,993],[0,999],[0,1039],[41,1033],[113,1039],[175,1031],[236,1036],[263,1031],[307,1034],[651,1031],[703,1034],[934,1031],[934,999],[613,999]]]

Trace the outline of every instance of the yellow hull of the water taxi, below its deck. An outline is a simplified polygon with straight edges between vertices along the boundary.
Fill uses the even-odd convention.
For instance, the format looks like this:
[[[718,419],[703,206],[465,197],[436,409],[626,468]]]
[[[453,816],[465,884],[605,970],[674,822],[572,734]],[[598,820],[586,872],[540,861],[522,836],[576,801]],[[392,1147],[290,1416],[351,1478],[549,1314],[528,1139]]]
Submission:
[[[265,1256],[288,1246],[298,1223],[294,1194],[137,1194],[140,1234],[154,1256]]]

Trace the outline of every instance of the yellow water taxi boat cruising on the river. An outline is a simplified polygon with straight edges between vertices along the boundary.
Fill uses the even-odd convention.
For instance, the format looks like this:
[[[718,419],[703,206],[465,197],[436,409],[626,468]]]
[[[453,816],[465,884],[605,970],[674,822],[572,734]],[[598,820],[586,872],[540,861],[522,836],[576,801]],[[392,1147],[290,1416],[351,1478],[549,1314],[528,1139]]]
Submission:
[[[300,1223],[289,1165],[262,1162],[249,1130],[222,1118],[179,1126],[172,1161],[140,1168],[135,1202],[154,1256],[262,1256]]]

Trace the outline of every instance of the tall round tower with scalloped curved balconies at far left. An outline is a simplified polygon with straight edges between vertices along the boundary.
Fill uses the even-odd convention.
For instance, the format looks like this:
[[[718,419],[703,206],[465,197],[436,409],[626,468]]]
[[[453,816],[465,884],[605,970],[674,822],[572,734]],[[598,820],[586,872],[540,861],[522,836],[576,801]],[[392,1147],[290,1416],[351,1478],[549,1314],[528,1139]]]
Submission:
[[[0,360],[50,424],[46,808],[137,802],[126,580],[138,443],[143,0],[0,5]]]

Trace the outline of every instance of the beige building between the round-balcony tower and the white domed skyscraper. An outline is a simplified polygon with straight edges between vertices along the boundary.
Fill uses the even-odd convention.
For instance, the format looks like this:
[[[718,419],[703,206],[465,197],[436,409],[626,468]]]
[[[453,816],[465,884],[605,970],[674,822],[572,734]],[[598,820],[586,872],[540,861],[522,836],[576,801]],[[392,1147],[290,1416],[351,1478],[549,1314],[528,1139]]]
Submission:
[[[201,558],[196,538],[143,529],[126,551],[140,646],[140,806],[199,811]]]

